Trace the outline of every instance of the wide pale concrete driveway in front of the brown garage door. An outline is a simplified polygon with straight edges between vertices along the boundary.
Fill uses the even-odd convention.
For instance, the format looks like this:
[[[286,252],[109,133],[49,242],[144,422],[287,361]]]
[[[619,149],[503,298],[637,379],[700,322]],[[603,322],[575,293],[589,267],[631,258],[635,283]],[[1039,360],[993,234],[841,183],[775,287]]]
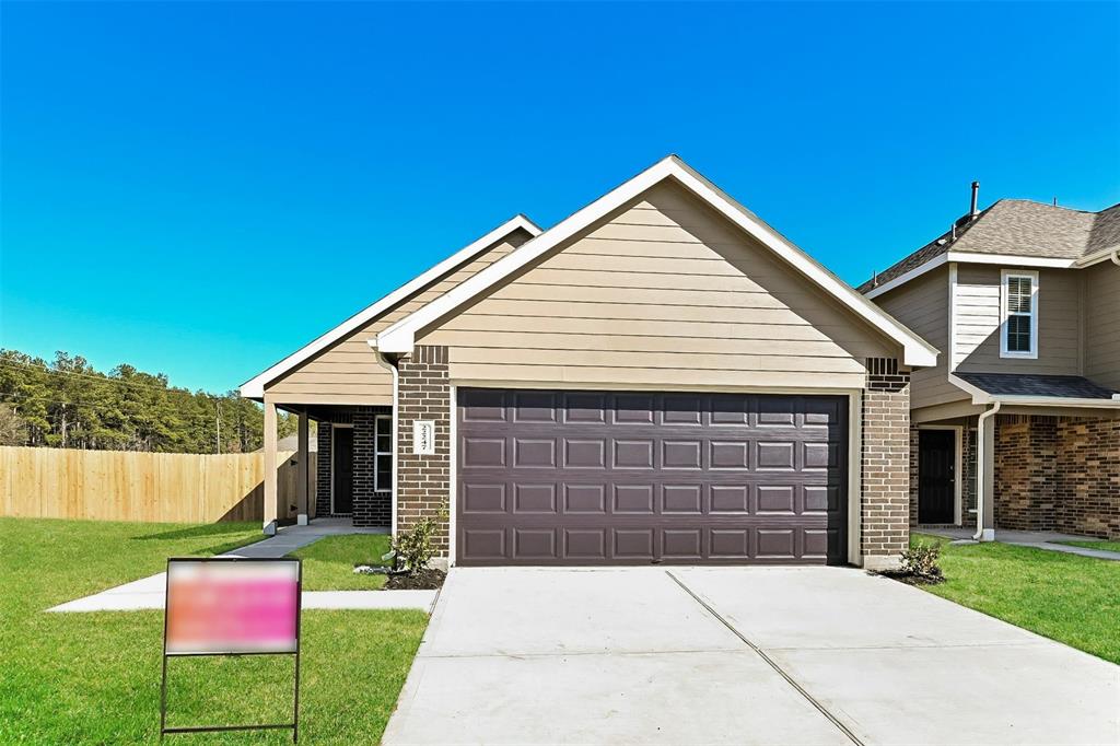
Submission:
[[[842,568],[454,569],[386,744],[1117,744],[1120,666]]]

